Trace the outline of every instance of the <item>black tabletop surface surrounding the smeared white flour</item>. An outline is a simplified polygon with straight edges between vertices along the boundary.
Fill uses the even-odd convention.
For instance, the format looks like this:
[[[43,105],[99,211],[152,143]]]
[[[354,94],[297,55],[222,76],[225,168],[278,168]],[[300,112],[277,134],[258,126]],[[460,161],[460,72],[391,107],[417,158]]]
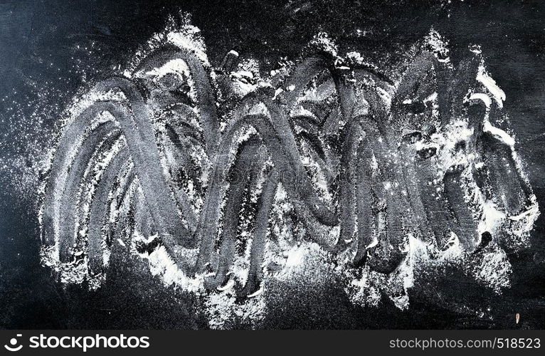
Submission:
[[[233,4],[230,4],[233,2]],[[1,1],[0,3],[0,156],[25,157],[21,137],[31,112],[43,112],[43,135],[55,125],[60,108],[78,90],[83,75],[97,78],[132,56],[168,14],[189,11],[201,28],[213,63],[232,48],[263,63],[297,57],[317,31],[343,49],[395,65],[404,49],[430,26],[457,48],[482,45],[487,66],[506,92],[505,103],[528,165],[540,206],[545,201],[543,140],[545,20],[538,1]],[[295,11],[299,9],[298,11]],[[354,29],[369,31],[365,37]],[[85,51],[88,48],[90,51]],[[268,69],[263,66],[263,69]],[[40,91],[56,95],[37,97]],[[15,101],[19,105],[12,105]],[[28,103],[28,106],[26,105]],[[24,105],[23,105],[24,104]],[[12,108],[18,108],[12,110]],[[46,112],[48,115],[46,115]],[[53,115],[51,115],[53,114]],[[22,127],[22,128],[21,128]],[[39,135],[40,131],[36,135]],[[39,138],[39,137],[38,137]],[[39,141],[38,141],[39,142]],[[38,143],[39,145],[39,143]],[[28,159],[31,159],[29,157]],[[29,162],[31,164],[31,162]],[[55,283],[38,258],[38,224],[32,194],[24,199],[9,188],[17,171],[4,168],[0,191],[0,325],[4,328],[201,328],[206,320],[189,295],[165,290],[147,277],[144,266],[115,275],[97,292]],[[34,199],[33,199],[34,198]],[[475,305],[494,305],[493,320],[455,315],[411,302],[361,310],[331,283],[319,294],[304,286],[285,286],[280,305],[270,305],[269,328],[544,328],[545,226],[537,221],[534,248],[510,256],[514,286],[502,297],[483,300],[475,286],[450,281],[450,297],[463,295]],[[140,271],[140,273],[138,273]],[[487,297],[490,298],[490,297]],[[514,324],[514,313],[522,323]]]

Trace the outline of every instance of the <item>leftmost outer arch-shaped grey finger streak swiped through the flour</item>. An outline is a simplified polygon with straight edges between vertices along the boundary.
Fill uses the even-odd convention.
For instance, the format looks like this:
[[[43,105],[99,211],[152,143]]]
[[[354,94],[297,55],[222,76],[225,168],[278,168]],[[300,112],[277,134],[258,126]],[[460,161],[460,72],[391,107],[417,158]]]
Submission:
[[[110,88],[119,88],[122,86],[122,88],[131,88],[129,84],[125,80],[110,80],[107,83],[100,83],[97,85],[100,89],[110,89]],[[131,88],[132,89],[132,88]],[[127,95],[129,98],[135,99],[138,101],[138,96],[134,92],[134,90],[128,91],[129,95]],[[95,105],[97,105],[95,107]],[[142,112],[142,108],[139,110],[138,103],[133,103],[132,110],[134,110],[135,114],[137,112]],[[188,233],[186,232],[184,226],[181,226],[181,222],[177,213],[176,206],[172,203],[172,201],[169,199],[168,188],[166,188],[164,183],[164,178],[162,176],[162,172],[160,171],[160,168],[156,165],[149,164],[149,162],[159,162],[159,152],[157,151],[157,145],[155,143],[153,128],[150,126],[151,122],[149,120],[142,120],[137,119],[136,116],[134,118],[136,119],[136,122],[132,121],[130,117],[132,115],[129,113],[127,109],[125,109],[122,105],[119,103],[95,103],[92,105],[92,108],[86,110],[83,112],[82,115],[79,115],[78,118],[69,124],[68,132],[65,132],[64,138],[66,140],[61,140],[61,143],[58,148],[57,156],[62,158],[68,158],[65,154],[66,151],[70,149],[71,145],[71,132],[74,132],[76,135],[79,134],[79,132],[82,132],[85,130],[86,125],[88,125],[88,122],[90,122],[89,118],[92,114],[96,114],[97,112],[110,112],[113,117],[117,120],[117,122],[120,123],[120,126],[122,127],[123,135],[125,135],[125,139],[127,140],[127,145],[129,152],[131,153],[132,159],[134,159],[135,164],[135,170],[140,178],[140,182],[144,187],[146,187],[147,194],[149,197],[155,196],[156,198],[152,199],[154,202],[152,203],[152,206],[154,207],[153,213],[155,221],[159,221],[159,225],[162,226],[162,235],[164,236],[164,239],[166,240],[167,244],[171,244],[171,246],[176,246],[177,244],[188,244]],[[147,113],[146,113],[147,115]],[[72,172],[74,176],[79,176],[83,173],[83,168],[86,165],[86,161],[90,155],[92,155],[92,151],[95,148],[95,144],[99,142],[101,135],[105,135],[108,129],[113,129],[112,122],[100,125],[100,130],[95,130],[95,135],[92,136],[92,142],[91,145],[88,147],[83,147],[83,153],[80,155],[76,155],[76,167],[78,169],[73,169]],[[77,137],[77,136],[76,136]],[[113,136],[112,136],[113,137]],[[147,142],[145,144],[144,142]],[[88,142],[89,143],[89,142]],[[65,161],[63,159],[63,161]],[[68,164],[67,164],[68,165]],[[58,167],[58,166],[57,166]],[[70,166],[68,166],[70,167]],[[56,167],[54,167],[56,168]],[[63,167],[64,169],[65,167]],[[51,174],[51,180],[49,182],[52,182],[53,187],[63,187],[63,182],[61,182],[61,179],[59,179],[59,173],[58,170],[60,169],[54,169],[53,174]],[[56,178],[56,179],[55,179]],[[75,179],[78,177],[72,177],[69,175],[68,178],[71,178],[71,181],[68,181],[68,192],[66,194],[73,195],[73,189],[75,187]],[[53,222],[53,214],[56,204],[50,204],[49,201],[55,200],[55,189],[50,188],[46,189],[46,211],[44,212],[44,233],[46,236],[46,241],[51,241],[51,231],[52,229],[52,222]],[[61,203],[64,202],[64,200],[61,199]],[[65,204],[66,205],[66,204]],[[53,208],[53,209],[51,209]],[[63,208],[66,208],[66,206],[63,206]],[[52,211],[53,210],[53,211]],[[66,211],[68,212],[68,211]],[[166,220],[169,221],[166,223]],[[50,222],[51,221],[51,222]],[[68,219],[68,221],[59,221],[59,224],[65,224],[65,228],[60,229],[60,231],[70,231],[70,226],[73,226],[74,219]],[[184,234],[185,233],[185,234]],[[180,236],[181,234],[181,236]],[[169,237],[172,236],[172,237]],[[181,239],[179,241],[173,240],[174,236],[179,236]],[[61,260],[65,261],[68,259],[67,253],[65,253],[66,246],[70,246],[70,241],[72,239],[70,236],[60,236],[60,246],[61,246]],[[191,244],[191,240],[189,240],[189,244]],[[64,252],[63,252],[64,251]]]

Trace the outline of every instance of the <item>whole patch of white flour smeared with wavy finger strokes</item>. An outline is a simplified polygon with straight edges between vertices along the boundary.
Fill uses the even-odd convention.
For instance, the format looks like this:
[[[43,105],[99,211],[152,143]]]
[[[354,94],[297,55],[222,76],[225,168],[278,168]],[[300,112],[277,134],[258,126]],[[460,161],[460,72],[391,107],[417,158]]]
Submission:
[[[539,208],[479,46],[454,65],[430,28],[382,70],[317,33],[264,75],[171,23],[66,111],[40,188],[62,283],[100,288],[133,256],[212,328],[258,328],[282,283],[401,310],[446,271],[510,287]]]

